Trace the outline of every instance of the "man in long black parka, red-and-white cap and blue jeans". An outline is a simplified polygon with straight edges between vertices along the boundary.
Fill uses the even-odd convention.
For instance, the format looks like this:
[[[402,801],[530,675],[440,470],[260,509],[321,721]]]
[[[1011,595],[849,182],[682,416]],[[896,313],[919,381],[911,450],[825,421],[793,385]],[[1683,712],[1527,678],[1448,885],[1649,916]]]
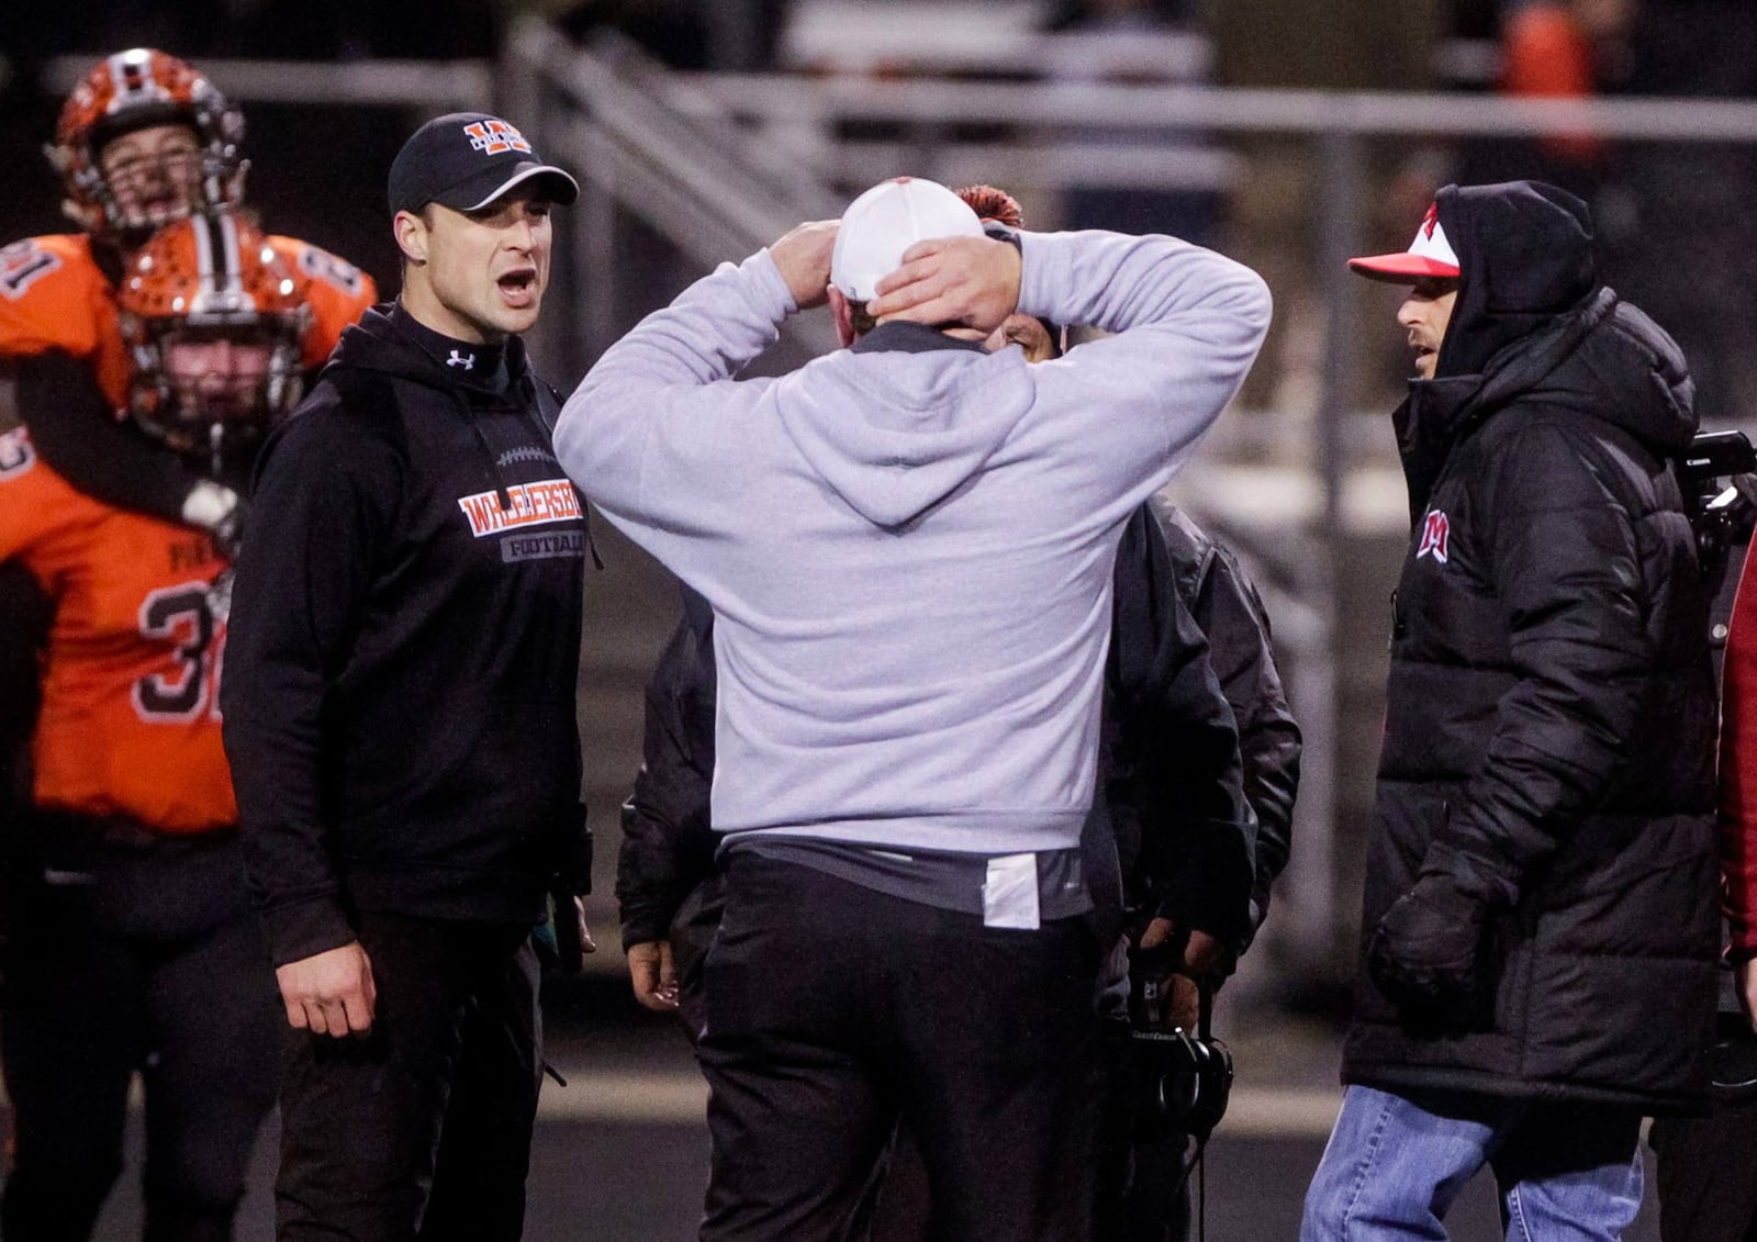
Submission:
[[[1348,1084],[1302,1238],[1439,1237],[1483,1165],[1532,1238],[1615,1238],[1643,1114],[1699,1105],[1718,901],[1713,680],[1671,457],[1676,344],[1585,204],[1446,186],[1411,251],[1395,596]]]

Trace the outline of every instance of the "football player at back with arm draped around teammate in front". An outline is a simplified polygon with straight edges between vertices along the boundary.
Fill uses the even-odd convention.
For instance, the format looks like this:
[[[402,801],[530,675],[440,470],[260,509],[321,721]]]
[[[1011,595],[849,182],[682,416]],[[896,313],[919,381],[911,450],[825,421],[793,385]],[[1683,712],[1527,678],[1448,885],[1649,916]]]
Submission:
[[[100,501],[230,538],[237,494],[128,420],[116,285],[153,228],[192,211],[235,209],[248,162],[244,118],[192,65],[149,47],[98,61],[61,107],[47,155],[81,232],[0,248],[0,365],[35,451]],[[302,364],[323,364],[378,299],[351,264],[267,237],[311,307]]]

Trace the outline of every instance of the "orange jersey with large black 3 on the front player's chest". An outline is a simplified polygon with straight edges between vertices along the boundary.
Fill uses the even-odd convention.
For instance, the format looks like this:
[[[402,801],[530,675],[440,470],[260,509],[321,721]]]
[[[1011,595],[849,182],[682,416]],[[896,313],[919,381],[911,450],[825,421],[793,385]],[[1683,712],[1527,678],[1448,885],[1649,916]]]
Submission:
[[[37,806],[162,833],[237,822],[220,743],[227,562],[207,536],[76,492],[23,429],[0,436],[0,560],[54,603],[32,740]]]

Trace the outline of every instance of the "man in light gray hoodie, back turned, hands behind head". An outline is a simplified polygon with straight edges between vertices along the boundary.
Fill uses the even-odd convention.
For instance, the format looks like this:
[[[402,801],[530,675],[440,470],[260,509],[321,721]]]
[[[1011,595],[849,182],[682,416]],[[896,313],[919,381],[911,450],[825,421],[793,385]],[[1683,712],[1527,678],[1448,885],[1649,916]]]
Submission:
[[[1168,237],[1016,241],[933,183],[875,186],[648,316],[557,425],[715,611],[703,1238],[835,1237],[900,1112],[949,1235],[1088,1235],[1112,560],[1269,293]],[[852,348],[733,381],[826,300]],[[1116,336],[1031,367],[982,348],[1014,309]]]

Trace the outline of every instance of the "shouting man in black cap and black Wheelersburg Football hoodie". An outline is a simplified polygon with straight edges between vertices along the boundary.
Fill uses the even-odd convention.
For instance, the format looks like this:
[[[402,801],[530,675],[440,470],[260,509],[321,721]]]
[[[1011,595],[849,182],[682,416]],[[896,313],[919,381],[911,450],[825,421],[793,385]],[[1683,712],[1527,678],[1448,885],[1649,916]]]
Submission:
[[[504,119],[423,125],[390,169],[402,297],[348,329],[257,471],[221,701],[297,1028],[283,1240],[522,1230],[531,933],[555,889],[587,940],[590,838],[585,511],[518,334],[576,193]]]

